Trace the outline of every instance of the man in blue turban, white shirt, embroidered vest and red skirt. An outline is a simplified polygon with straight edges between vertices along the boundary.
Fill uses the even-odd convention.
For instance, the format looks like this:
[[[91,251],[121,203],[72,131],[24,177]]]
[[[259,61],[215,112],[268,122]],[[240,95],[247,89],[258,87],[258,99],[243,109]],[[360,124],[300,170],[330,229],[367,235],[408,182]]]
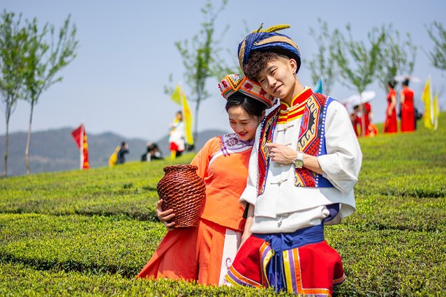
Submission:
[[[281,104],[256,133],[240,198],[248,203],[244,243],[227,279],[329,296],[345,275],[323,226],[355,211],[362,153],[345,108],[299,81],[299,48],[275,32],[288,27],[259,29],[239,45],[244,74]]]

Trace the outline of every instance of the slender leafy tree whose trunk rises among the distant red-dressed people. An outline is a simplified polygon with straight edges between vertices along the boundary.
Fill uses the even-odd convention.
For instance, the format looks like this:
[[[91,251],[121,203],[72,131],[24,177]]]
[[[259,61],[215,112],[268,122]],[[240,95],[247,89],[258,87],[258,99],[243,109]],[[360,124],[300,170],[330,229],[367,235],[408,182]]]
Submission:
[[[385,42],[385,26],[380,29],[373,27],[367,34],[369,44],[354,40],[350,24],[345,26],[348,38],[336,29],[333,34],[334,59],[339,67],[339,74],[344,79],[341,83],[354,89],[361,98],[361,93],[376,78],[382,64],[382,45]],[[361,105],[364,114],[364,105]],[[362,135],[365,132],[364,116],[362,117]]]

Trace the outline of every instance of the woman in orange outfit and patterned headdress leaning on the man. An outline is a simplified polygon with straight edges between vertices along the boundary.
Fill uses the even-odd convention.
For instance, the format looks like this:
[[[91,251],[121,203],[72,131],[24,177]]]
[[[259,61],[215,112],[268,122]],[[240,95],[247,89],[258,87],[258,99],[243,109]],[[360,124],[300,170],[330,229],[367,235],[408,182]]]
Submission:
[[[169,231],[137,278],[168,277],[213,285],[227,282],[225,274],[246,221],[239,197],[246,187],[255,130],[275,98],[244,75],[227,75],[218,87],[227,99],[225,109],[234,133],[209,139],[191,162],[206,183],[198,227],[175,229],[172,209],[163,211],[162,200],[158,201],[158,218]]]

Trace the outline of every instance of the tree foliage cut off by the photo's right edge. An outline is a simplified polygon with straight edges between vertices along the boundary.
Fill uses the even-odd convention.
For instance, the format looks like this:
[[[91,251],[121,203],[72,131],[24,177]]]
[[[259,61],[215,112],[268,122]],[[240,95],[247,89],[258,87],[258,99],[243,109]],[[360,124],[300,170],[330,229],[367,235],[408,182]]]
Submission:
[[[426,26],[429,37],[435,43],[433,50],[427,53],[432,66],[446,70],[446,30],[440,22],[433,22]]]

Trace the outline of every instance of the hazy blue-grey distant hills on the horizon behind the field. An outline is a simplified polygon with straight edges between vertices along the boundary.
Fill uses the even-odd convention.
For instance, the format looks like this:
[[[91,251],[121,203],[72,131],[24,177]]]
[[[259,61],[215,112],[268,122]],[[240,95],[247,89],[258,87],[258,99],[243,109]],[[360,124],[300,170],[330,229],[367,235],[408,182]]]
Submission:
[[[31,173],[57,172],[79,168],[80,153],[71,136],[74,128],[36,131],[31,135],[29,161]],[[216,135],[224,134],[221,130],[205,130],[198,133],[198,144],[195,150],[202,148],[207,140]],[[140,160],[146,151],[147,140],[140,138],[128,139],[113,132],[90,134],[87,130],[89,145],[89,162],[91,167],[107,166],[108,158],[114,148],[126,141],[129,146],[126,160]],[[9,135],[8,176],[26,174],[24,149],[27,140],[26,132],[14,132]],[[165,156],[170,155],[168,135],[156,141]],[[0,136],[0,171],[3,171],[5,151],[5,135]]]

